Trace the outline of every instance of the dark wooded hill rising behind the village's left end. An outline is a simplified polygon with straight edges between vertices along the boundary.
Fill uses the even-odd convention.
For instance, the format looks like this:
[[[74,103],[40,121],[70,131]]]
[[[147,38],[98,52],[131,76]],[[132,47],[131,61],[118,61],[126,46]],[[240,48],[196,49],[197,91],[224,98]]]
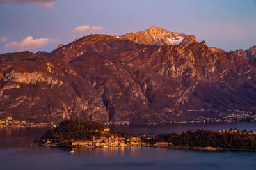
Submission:
[[[72,139],[92,139],[99,137],[96,129],[103,130],[103,125],[86,120],[64,120],[54,130],[49,130],[41,139],[54,139],[55,141]]]

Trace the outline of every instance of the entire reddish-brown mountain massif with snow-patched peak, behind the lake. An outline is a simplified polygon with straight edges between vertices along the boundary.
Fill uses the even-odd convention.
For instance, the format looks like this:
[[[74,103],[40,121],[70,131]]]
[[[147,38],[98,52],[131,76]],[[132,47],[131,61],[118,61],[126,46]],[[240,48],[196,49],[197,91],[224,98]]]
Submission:
[[[256,104],[256,68],[241,54],[159,27],[122,36],[88,35],[50,53],[3,54],[0,112],[38,121],[131,123],[250,112]],[[253,47],[248,54],[254,54]],[[42,81],[45,75],[52,78]]]

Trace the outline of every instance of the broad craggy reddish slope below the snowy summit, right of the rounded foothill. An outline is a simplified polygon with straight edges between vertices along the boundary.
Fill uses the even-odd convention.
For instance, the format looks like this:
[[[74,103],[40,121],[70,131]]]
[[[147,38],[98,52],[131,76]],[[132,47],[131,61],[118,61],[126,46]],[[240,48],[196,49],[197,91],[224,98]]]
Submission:
[[[112,58],[92,53],[70,64],[101,95],[110,121],[186,120],[255,104],[255,68],[198,43],[146,47]]]

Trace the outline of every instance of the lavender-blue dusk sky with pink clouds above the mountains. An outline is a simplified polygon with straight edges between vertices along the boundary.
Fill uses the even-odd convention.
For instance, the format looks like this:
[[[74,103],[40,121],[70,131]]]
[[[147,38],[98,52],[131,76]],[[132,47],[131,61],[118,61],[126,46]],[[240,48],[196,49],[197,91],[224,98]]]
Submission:
[[[0,54],[56,49],[92,33],[152,26],[195,35],[209,47],[256,45],[256,0],[0,0]]]

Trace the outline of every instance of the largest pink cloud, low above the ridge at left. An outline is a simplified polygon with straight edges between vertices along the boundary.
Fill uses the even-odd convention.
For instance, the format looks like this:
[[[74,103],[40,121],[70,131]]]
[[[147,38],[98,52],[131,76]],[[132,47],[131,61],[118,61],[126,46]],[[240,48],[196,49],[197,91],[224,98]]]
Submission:
[[[22,42],[10,42],[7,43],[4,47],[6,49],[15,49],[15,50],[29,50],[29,49],[36,49],[40,47],[44,47],[49,43],[56,43],[58,40],[50,39],[50,38],[36,38],[34,39],[33,36],[28,36],[22,40]]]

